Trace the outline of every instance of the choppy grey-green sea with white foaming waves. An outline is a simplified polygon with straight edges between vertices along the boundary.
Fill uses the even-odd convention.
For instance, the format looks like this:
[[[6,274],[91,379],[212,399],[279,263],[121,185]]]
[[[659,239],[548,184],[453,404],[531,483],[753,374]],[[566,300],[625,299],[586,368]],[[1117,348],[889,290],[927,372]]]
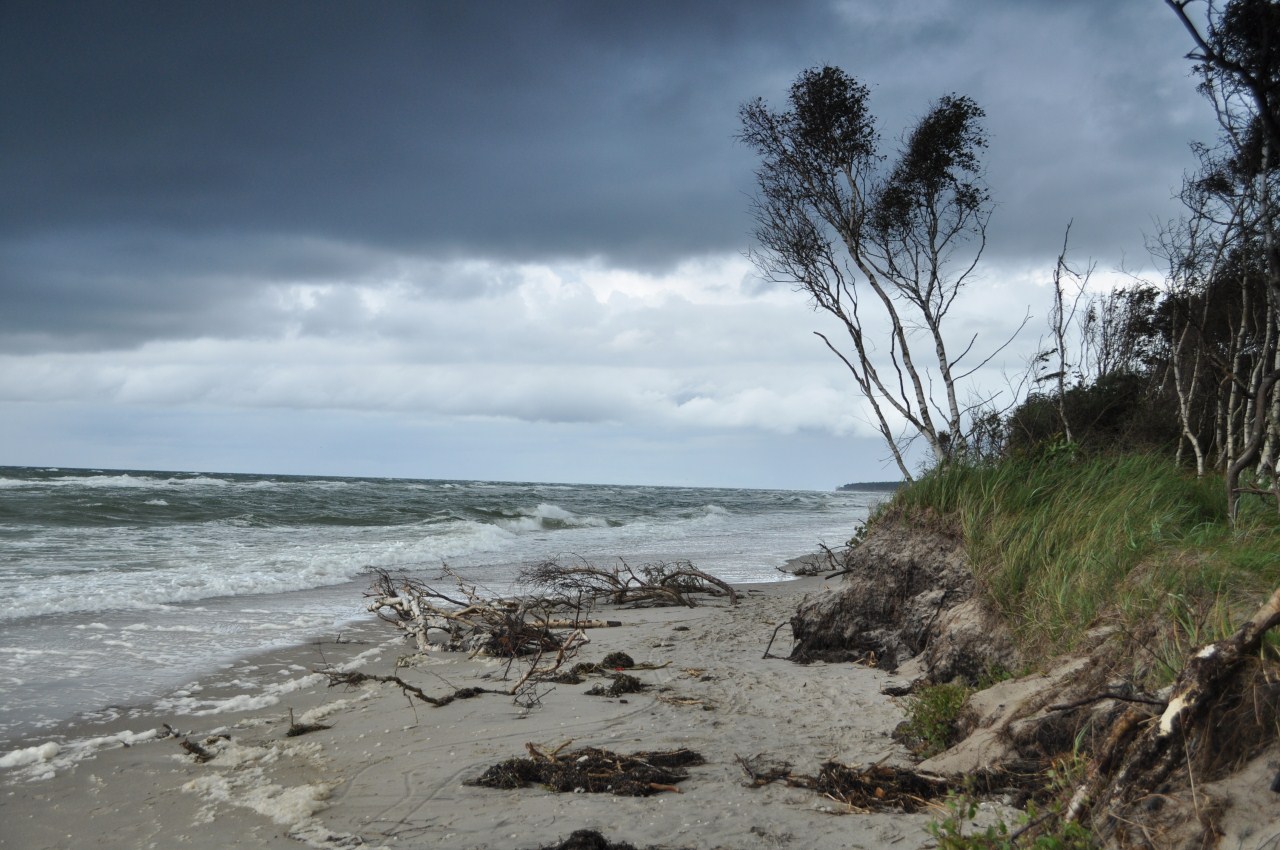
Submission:
[[[731,582],[847,540],[883,492],[0,467],[0,750],[372,618],[374,570],[518,593],[541,561]],[[388,634],[393,630],[388,627]]]

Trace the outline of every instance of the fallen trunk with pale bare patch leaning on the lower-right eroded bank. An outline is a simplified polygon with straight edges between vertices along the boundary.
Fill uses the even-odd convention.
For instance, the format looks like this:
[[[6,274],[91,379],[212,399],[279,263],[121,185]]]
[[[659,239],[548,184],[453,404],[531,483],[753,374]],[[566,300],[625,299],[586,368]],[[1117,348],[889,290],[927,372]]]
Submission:
[[[1092,822],[1096,833],[1107,837],[1123,826],[1130,806],[1162,794],[1178,771],[1190,771],[1189,754],[1213,723],[1215,700],[1231,689],[1243,662],[1258,653],[1266,632],[1277,625],[1280,589],[1234,635],[1208,644],[1187,662],[1158,716],[1129,709],[1073,795],[1066,818]]]

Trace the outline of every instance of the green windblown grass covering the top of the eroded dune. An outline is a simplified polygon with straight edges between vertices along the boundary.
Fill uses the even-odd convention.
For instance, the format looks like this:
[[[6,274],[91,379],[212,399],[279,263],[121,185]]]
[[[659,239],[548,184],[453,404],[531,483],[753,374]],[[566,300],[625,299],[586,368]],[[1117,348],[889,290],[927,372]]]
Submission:
[[[1233,527],[1221,477],[1151,454],[951,466],[899,490],[884,513],[956,527],[1019,640],[1046,653],[1102,621],[1167,623],[1151,650],[1174,668],[1280,584],[1275,503],[1248,499]]]

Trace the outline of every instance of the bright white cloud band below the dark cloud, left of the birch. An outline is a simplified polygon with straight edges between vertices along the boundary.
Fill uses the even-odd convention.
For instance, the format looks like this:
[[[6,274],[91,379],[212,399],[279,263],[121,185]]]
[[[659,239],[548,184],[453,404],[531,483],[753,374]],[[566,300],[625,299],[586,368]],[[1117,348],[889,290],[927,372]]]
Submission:
[[[404,278],[266,284],[253,309],[271,334],[6,355],[0,398],[783,434],[859,428],[845,378],[808,335],[814,316],[794,293],[745,291],[741,257],[652,275],[596,262],[433,271],[504,285],[456,298]]]

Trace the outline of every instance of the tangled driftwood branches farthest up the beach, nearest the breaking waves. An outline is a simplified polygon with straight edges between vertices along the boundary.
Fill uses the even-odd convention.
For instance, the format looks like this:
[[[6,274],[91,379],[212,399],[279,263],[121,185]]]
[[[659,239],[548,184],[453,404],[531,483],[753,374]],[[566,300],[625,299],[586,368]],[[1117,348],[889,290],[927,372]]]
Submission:
[[[564,563],[543,561],[520,573],[521,584],[556,594],[562,600],[599,599],[632,608],[658,605],[696,607],[698,594],[727,597],[737,604],[737,593],[716,576],[687,561],[646,563],[639,568],[626,561],[614,567],[598,567],[582,558]]]

